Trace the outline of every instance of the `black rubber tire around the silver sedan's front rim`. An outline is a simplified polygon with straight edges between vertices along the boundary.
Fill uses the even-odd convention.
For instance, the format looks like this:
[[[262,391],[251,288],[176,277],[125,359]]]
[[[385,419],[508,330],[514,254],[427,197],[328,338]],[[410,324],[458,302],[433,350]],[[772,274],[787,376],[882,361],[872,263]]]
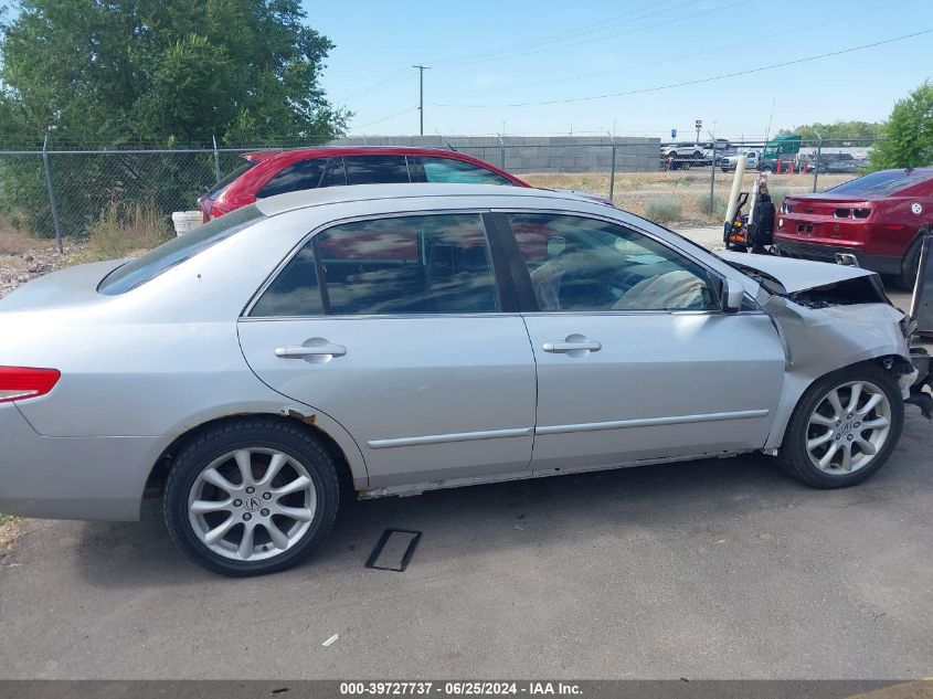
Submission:
[[[830,475],[817,468],[807,452],[806,442],[810,438],[808,435],[809,419],[827,393],[834,388],[850,381],[868,381],[881,389],[890,404],[891,417],[889,432],[884,444],[869,464],[851,473]],[[814,488],[829,489],[854,486],[871,476],[884,465],[898,445],[903,422],[903,398],[901,396],[901,390],[897,380],[890,372],[872,362],[863,362],[839,369],[817,379],[804,392],[804,395],[797,403],[797,407],[794,410],[794,414],[791,416],[791,422],[787,424],[787,430],[784,433],[784,442],[777,455],[777,463],[785,473]]]

